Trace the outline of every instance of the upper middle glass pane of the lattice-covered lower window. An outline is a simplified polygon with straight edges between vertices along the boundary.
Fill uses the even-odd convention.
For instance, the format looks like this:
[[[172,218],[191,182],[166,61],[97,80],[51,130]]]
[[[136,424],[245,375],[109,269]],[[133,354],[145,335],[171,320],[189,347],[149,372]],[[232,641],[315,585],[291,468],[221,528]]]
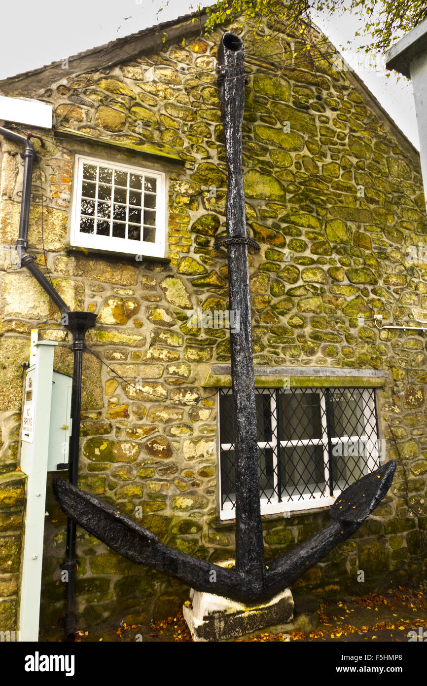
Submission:
[[[321,438],[320,393],[279,393],[280,440]]]

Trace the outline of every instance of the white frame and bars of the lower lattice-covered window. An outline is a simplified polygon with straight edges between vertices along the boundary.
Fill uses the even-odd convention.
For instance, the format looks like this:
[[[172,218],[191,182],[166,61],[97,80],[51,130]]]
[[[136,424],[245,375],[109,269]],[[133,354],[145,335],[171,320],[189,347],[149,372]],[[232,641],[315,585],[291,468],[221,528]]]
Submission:
[[[297,389],[295,389],[297,390]],[[367,417],[368,417],[368,409],[371,412],[374,412],[375,414],[375,407],[374,407],[374,399],[372,398],[371,394],[369,394],[369,389],[359,389],[363,391],[363,417],[365,421],[365,426],[367,425]],[[262,389],[262,388],[257,388],[256,391],[259,392],[269,392],[267,389]],[[301,391],[303,392],[304,389],[302,388]],[[326,425],[326,402],[325,402],[325,394],[323,388],[310,388],[310,392],[319,392],[320,394],[320,405],[321,405],[321,438],[307,438],[307,439],[300,439],[300,440],[281,440],[280,441],[280,447],[289,447],[289,446],[298,446],[298,445],[322,445],[324,448],[324,474],[325,474],[325,483],[328,488],[329,484],[329,464],[328,464],[328,450],[329,450],[329,444],[328,444],[328,427]],[[285,393],[291,392],[291,390],[285,390]],[[219,399],[220,399],[220,394],[218,394],[218,410],[219,410]],[[276,412],[276,395],[272,394],[271,395],[271,429],[273,431],[273,438],[271,441],[269,441],[268,445],[273,448],[273,471],[274,471],[274,485],[276,486],[277,484],[277,460],[278,460],[278,451],[277,451],[277,445],[276,445],[276,438],[275,436],[275,431],[276,431],[276,423],[277,423],[277,412]],[[330,439],[331,445],[335,445],[339,442],[342,442],[345,444],[346,442],[354,441],[354,440],[367,440],[367,436],[363,434],[362,436],[341,436],[341,438],[332,438]],[[378,437],[379,440],[379,437]],[[230,500],[226,501],[224,504],[222,504],[222,493],[221,493],[221,449],[228,451],[231,449],[232,444],[231,443],[224,443],[221,445],[221,429],[219,425],[219,411],[218,411],[218,422],[217,422],[217,445],[218,445],[218,473],[219,473],[219,517],[221,520],[228,520],[228,519],[235,519],[236,517],[236,508],[233,505]],[[265,442],[258,442],[258,447],[263,448],[267,447],[267,443]],[[375,468],[375,460],[378,459],[380,461],[380,455],[376,449],[374,449],[374,454],[371,455],[368,461],[368,467],[369,471],[372,471]],[[275,493],[273,499],[269,502],[266,497],[260,497],[260,506],[261,506],[261,514],[281,514],[282,512],[298,512],[300,510],[313,510],[315,508],[324,508],[328,507],[334,504],[335,500],[339,495],[341,494],[341,490],[336,486],[334,488],[334,495],[333,496],[325,496],[320,490],[315,491],[313,494],[306,494],[306,495],[300,495],[300,494],[295,494],[295,496],[291,496],[289,498],[288,495],[286,495],[282,491],[282,501],[278,501],[277,494]],[[234,495],[234,501],[235,501],[235,493],[230,493],[229,496],[232,497]]]

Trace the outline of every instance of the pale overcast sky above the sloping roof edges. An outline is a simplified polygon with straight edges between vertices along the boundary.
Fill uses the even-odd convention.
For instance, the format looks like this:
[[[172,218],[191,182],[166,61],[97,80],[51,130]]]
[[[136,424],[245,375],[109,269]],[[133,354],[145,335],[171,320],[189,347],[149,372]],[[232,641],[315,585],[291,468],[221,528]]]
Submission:
[[[73,0],[71,3],[20,0],[2,3],[0,79],[103,45],[158,21],[176,19],[195,8],[197,0],[193,5],[188,0]],[[332,18],[316,15],[313,19],[336,47],[347,45],[348,40],[353,42],[347,56],[350,64],[354,64],[351,61],[355,59],[357,47],[354,33],[360,30],[360,22],[349,13],[334,14]],[[343,55],[346,56],[344,51]],[[404,78],[398,82],[394,73],[387,79],[384,69],[356,67],[355,71],[419,148],[411,83]]]

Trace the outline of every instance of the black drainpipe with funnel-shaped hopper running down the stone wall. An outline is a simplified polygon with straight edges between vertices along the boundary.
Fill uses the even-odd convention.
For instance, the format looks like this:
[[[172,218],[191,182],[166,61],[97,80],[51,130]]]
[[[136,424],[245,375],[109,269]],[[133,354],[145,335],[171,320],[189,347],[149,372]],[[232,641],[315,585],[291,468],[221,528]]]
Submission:
[[[96,315],[93,312],[72,312],[60,294],[56,292],[50,281],[40,271],[32,255],[28,255],[28,220],[29,205],[31,201],[31,186],[33,163],[37,159],[34,145],[30,137],[25,138],[20,134],[10,131],[0,126],[0,135],[18,143],[25,145],[21,157],[24,160],[24,178],[21,196],[21,216],[19,218],[19,237],[16,241],[16,252],[19,257],[19,267],[26,267],[34,278],[40,283],[47,292],[49,298],[53,300],[56,307],[64,315],[63,322],[73,335],[71,350],[74,355],[73,367],[73,388],[71,392],[71,436],[69,444],[69,482],[77,486],[79,471],[79,441],[80,441],[80,411],[82,404],[82,357],[84,350],[84,335],[88,329],[95,327]],[[41,140],[41,139],[40,139]],[[66,522],[66,552],[65,561],[61,569],[68,572],[68,580],[65,582],[65,613],[64,613],[64,639],[65,641],[75,641],[75,628],[77,617],[74,612],[75,607],[75,522],[67,518]]]

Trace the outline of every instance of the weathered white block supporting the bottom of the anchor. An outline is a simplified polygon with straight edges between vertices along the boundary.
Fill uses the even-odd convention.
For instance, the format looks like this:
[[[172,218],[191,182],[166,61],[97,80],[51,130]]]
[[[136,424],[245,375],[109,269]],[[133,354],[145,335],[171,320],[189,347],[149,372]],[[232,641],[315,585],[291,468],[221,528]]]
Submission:
[[[193,641],[226,641],[293,619],[293,598],[289,589],[258,605],[243,605],[193,589],[190,598],[193,607],[184,605],[182,609]]]

